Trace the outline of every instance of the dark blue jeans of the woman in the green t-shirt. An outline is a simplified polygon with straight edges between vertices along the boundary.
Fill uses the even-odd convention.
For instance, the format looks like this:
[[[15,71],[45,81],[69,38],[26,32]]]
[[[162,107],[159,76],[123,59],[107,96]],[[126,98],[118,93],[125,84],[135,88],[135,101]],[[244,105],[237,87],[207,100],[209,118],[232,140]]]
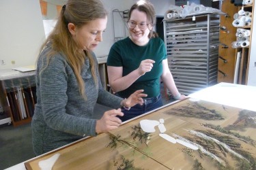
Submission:
[[[122,108],[124,116],[118,116],[118,118],[120,118],[124,122],[141,114],[145,114],[146,112],[150,112],[153,109],[161,107],[162,105],[163,104],[161,95],[158,95],[158,97],[144,99],[143,105],[134,105],[133,107],[130,107],[130,110]]]

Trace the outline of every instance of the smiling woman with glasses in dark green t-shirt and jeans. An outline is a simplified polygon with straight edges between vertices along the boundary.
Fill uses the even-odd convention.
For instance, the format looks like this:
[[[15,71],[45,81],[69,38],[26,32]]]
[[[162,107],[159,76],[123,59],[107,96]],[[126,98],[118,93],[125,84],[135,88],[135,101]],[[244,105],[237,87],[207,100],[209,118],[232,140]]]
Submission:
[[[153,32],[155,23],[152,3],[137,1],[128,14],[130,37],[117,41],[109,52],[107,69],[111,89],[124,98],[139,89],[144,89],[147,94],[143,105],[122,110],[122,121],[162,106],[160,80],[175,99],[186,99],[175,86],[168,67],[165,44]]]

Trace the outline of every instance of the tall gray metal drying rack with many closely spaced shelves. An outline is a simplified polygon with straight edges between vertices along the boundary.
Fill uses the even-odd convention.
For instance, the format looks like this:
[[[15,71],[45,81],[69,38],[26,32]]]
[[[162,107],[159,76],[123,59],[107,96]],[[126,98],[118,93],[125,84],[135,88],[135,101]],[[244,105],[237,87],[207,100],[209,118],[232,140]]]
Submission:
[[[219,16],[164,20],[169,69],[184,95],[217,83]]]

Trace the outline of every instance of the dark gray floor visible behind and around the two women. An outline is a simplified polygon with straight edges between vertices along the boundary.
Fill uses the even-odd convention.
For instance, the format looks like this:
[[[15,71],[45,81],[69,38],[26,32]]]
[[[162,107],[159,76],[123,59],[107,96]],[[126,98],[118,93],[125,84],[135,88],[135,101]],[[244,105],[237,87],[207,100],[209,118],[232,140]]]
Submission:
[[[164,104],[173,101],[162,97]],[[96,105],[96,118],[108,110],[109,107]],[[33,158],[33,149],[31,143],[31,126],[23,124],[21,126],[1,125],[0,126],[0,169],[12,167],[25,160]]]

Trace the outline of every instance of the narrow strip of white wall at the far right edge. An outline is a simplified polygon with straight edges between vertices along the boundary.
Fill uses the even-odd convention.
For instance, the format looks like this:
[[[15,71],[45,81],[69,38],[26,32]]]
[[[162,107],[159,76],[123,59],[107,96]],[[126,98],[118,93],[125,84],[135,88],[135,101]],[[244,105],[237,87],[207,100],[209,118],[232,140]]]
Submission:
[[[256,2],[254,2],[253,9],[256,9]],[[254,21],[253,28],[256,28],[256,11],[254,10]],[[253,34],[251,35],[251,54],[250,54],[250,63],[249,63],[249,71],[248,71],[248,82],[249,86],[256,86],[256,31],[253,30]]]

